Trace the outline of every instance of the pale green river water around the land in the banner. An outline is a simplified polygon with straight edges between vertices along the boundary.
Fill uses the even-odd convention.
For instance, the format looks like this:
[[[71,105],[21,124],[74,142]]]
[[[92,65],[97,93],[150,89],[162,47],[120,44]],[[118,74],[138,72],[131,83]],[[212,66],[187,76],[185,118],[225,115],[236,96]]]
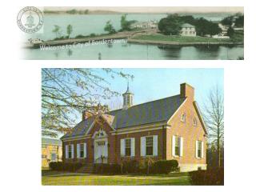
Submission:
[[[194,14],[195,18],[203,17],[212,21],[219,21],[228,14]],[[166,14],[128,14],[128,20],[138,22],[157,20],[166,17]],[[44,28],[42,34],[30,34],[24,38],[41,38],[50,40],[56,34],[52,32],[54,25],[62,29],[62,35],[66,35],[66,26],[72,25],[71,37],[78,34],[103,34],[107,21],[111,21],[116,30],[120,29],[121,14],[46,14],[44,16]],[[26,41],[26,40],[25,40]],[[83,47],[66,47],[65,49],[40,50],[24,49],[24,59],[238,59],[243,58],[243,46],[182,46],[162,47],[154,45],[138,45],[126,41],[113,44],[97,44]]]

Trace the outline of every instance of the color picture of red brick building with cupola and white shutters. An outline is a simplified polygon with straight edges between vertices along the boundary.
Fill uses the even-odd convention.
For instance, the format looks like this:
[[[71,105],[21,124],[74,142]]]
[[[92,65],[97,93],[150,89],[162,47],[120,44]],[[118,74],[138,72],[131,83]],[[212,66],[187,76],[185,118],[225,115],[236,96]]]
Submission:
[[[42,68],[42,185],[224,185],[223,72]]]

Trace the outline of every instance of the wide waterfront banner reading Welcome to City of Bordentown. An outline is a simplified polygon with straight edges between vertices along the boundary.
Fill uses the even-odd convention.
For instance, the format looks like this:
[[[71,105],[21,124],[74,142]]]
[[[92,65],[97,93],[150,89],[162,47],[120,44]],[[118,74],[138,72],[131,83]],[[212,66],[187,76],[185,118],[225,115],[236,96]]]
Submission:
[[[243,7],[26,7],[23,59],[238,60]]]

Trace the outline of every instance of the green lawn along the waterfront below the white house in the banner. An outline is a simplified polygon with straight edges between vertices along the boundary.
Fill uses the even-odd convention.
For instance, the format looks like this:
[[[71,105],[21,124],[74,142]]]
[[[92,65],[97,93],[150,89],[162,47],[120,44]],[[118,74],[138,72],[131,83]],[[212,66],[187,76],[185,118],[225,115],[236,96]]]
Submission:
[[[242,37],[243,38],[243,37]],[[241,37],[236,38],[235,41],[241,41]],[[148,34],[148,35],[137,35],[132,39],[146,40],[146,41],[161,41],[161,42],[232,42],[229,38],[205,38],[205,37],[184,37],[184,36],[170,36],[163,34]]]

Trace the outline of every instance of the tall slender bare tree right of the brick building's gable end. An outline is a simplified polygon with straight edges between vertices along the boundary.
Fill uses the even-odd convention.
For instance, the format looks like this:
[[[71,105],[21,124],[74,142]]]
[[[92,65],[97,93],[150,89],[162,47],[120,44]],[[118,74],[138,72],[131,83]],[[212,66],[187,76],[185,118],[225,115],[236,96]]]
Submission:
[[[216,86],[210,91],[208,105],[204,109],[204,119],[209,131],[210,145],[216,146],[218,166],[221,166],[221,147],[224,147],[224,98]]]

